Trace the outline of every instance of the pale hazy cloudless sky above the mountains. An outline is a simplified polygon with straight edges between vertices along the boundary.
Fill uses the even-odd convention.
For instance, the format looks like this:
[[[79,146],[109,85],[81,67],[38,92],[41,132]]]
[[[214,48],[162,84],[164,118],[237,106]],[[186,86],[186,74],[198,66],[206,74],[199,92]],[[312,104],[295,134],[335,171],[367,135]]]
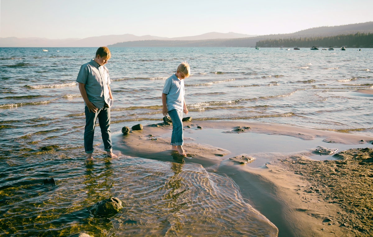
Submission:
[[[372,9],[372,0],[0,0],[0,36],[267,35],[373,21]]]

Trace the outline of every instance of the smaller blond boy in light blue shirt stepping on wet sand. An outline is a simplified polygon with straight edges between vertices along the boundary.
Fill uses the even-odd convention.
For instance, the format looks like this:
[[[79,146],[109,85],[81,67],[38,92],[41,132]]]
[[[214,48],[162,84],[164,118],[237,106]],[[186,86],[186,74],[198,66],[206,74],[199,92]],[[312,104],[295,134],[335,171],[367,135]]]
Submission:
[[[182,156],[186,156],[183,150],[183,122],[182,112],[188,113],[185,105],[184,80],[190,75],[190,67],[186,62],[181,63],[175,74],[166,79],[162,92],[162,113],[164,116],[169,114],[172,120],[171,143],[173,151],[178,151]]]

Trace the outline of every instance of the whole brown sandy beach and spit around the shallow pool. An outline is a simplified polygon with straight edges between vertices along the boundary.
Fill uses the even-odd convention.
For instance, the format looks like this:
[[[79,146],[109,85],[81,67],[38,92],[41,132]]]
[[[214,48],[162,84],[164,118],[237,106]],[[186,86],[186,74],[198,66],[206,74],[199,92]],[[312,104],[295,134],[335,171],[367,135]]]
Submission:
[[[263,146],[258,148],[261,152],[252,153],[243,147],[239,156],[252,157],[254,161],[239,164],[229,159],[237,156],[237,148],[214,147],[209,144],[209,139],[204,139],[207,144],[197,143],[193,136],[206,131],[209,137],[206,128],[210,128],[224,129],[219,135],[222,140],[228,137],[227,134],[250,132],[285,135],[305,141],[321,138],[324,147],[344,144],[370,148],[373,137],[238,121],[191,121],[184,122],[184,128],[186,158],[170,150],[170,138],[165,135],[170,133],[171,125],[147,125],[128,135],[113,135],[114,147],[134,157],[198,163],[208,172],[230,177],[238,185],[244,200],[276,225],[278,236],[370,236],[369,232],[373,231],[370,200],[373,163],[369,160],[373,156],[372,149],[354,148],[333,156],[336,160],[319,161],[309,157],[329,155],[328,150],[319,152],[315,147],[308,147],[301,151],[294,148],[293,151],[268,152],[270,149]],[[210,137],[217,139],[216,135],[210,134]],[[282,139],[286,140],[286,137]],[[244,141],[237,141],[240,142]],[[368,161],[359,164],[362,159]]]

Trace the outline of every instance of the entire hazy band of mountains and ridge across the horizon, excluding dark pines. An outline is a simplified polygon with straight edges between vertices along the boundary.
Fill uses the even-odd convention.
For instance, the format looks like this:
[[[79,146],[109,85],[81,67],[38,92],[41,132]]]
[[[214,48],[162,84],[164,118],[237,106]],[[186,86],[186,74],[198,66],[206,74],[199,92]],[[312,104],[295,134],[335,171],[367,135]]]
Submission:
[[[341,26],[322,26],[289,34],[245,35],[234,32],[210,32],[185,37],[159,37],[152,35],[136,36],[103,35],[84,39],[47,39],[47,38],[0,38],[0,47],[250,47],[264,39],[287,39],[299,37],[317,37],[347,35],[351,33],[373,33],[373,22]]]

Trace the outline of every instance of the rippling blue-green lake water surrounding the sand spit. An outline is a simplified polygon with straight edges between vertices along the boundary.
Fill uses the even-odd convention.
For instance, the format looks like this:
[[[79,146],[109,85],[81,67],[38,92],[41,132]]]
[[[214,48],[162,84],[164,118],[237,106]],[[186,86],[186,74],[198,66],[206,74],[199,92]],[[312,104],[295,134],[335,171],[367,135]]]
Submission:
[[[0,48],[0,236],[65,236],[78,230],[94,236],[273,233],[232,180],[200,165],[109,159],[103,152],[86,161],[84,103],[75,79],[96,48],[43,49],[48,51]],[[110,51],[112,132],[162,121],[164,81],[187,61],[192,76],[185,79],[185,101],[194,120],[373,135],[373,96],[354,92],[373,88],[371,49]],[[94,144],[100,137],[96,131]],[[48,145],[58,147],[41,150]],[[41,185],[47,177],[57,186]],[[86,208],[109,196],[124,201],[122,212],[105,220],[90,216]]]

